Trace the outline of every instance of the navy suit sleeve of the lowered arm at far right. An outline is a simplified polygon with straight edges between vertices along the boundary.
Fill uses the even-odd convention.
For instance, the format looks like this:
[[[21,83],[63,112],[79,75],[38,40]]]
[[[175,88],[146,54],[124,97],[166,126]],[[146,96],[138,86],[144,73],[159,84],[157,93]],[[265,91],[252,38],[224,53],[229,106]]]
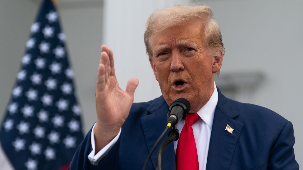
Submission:
[[[268,160],[268,169],[272,170],[298,170],[299,165],[295,160],[294,128],[291,122],[287,122],[282,129],[275,145],[273,145]]]

